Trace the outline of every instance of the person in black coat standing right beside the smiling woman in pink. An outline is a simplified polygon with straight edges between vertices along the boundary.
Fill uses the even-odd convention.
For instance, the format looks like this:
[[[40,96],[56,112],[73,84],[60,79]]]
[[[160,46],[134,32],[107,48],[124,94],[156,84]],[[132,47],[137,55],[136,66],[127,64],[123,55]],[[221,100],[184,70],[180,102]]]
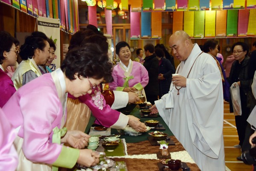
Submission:
[[[154,101],[158,100],[159,87],[158,87],[158,59],[157,55],[154,54],[154,45],[146,44],[144,46],[144,67],[148,71],[148,85],[144,87],[147,101],[154,104]]]

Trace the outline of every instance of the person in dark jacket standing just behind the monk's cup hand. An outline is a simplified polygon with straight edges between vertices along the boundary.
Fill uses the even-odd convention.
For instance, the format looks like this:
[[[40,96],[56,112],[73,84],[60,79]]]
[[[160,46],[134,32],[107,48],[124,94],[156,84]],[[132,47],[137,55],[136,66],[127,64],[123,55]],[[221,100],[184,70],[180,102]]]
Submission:
[[[164,52],[160,48],[155,49],[155,54],[159,60],[159,72],[158,72],[158,81],[159,81],[159,99],[169,92],[170,85],[172,82],[172,74],[175,73],[175,69],[172,63],[164,57]]]

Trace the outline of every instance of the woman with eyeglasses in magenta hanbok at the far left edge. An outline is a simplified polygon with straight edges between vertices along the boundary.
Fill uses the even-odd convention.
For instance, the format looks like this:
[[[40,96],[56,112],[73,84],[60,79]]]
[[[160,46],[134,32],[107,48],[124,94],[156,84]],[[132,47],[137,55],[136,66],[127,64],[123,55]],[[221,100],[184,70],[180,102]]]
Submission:
[[[19,51],[15,41],[8,32],[0,32],[0,107],[3,107],[16,91],[11,78],[5,72],[8,66],[15,66],[17,62]]]

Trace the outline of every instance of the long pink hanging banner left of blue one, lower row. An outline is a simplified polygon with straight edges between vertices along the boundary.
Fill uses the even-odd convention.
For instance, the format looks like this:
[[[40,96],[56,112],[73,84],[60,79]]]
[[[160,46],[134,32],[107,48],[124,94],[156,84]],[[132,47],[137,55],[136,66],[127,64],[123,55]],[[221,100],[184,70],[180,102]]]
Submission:
[[[140,38],[140,12],[131,12],[131,38]]]

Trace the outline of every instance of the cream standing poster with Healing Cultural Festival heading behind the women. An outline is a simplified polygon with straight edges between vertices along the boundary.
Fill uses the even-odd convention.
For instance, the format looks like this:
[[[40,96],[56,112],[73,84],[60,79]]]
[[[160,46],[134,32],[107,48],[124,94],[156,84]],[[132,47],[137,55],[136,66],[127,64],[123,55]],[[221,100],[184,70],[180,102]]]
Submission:
[[[38,17],[38,31],[44,32],[56,44],[55,59],[49,68],[54,71],[61,65],[60,21],[58,19]]]

